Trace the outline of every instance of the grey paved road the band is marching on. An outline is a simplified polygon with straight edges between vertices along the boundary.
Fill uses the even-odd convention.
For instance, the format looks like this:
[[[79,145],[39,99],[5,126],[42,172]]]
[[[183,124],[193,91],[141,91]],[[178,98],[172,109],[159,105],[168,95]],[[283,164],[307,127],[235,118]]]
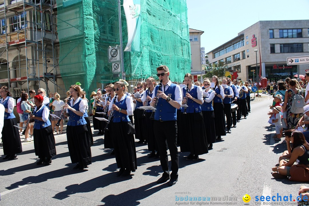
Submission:
[[[270,140],[275,132],[267,123],[271,101],[253,101],[247,120],[237,123],[200,161],[187,161],[188,153],[180,153],[179,181],[172,187],[155,183],[161,167],[158,159],[147,158],[146,145],[136,144],[138,169],[122,178],[116,177],[115,158],[109,155],[110,149],[104,149],[102,136],[94,137],[92,164],[84,171],[72,170],[65,135],[56,136],[57,156],[49,166],[37,166],[33,142],[23,143],[18,159],[0,159],[0,205],[201,205],[221,204],[226,196],[233,200],[228,202],[243,205],[245,194],[255,205],[256,195],[277,193],[292,194],[295,199],[303,183],[275,180],[270,174],[286,150],[286,145]],[[217,200],[176,201],[186,195]]]

